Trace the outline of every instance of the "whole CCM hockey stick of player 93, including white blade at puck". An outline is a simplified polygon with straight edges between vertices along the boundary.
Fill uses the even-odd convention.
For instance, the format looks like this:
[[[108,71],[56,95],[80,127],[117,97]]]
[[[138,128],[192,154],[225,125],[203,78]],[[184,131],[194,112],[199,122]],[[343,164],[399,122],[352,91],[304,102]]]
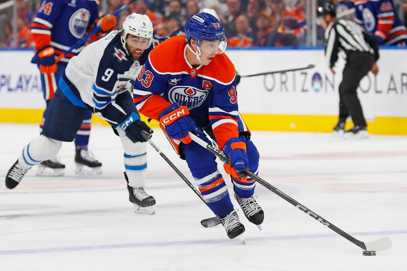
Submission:
[[[196,135],[194,135],[191,132],[189,132],[189,136],[191,137],[191,139],[193,141],[195,141],[202,147],[208,149],[211,153],[213,153],[214,155],[219,157],[221,160],[223,160],[225,162],[230,162],[230,159],[227,156],[225,156],[222,152],[220,152],[220,150],[215,149],[213,146],[207,144],[207,142],[203,141],[202,139],[200,139],[199,137],[197,137]],[[335,231],[336,233],[338,233],[342,237],[346,238],[347,240],[350,240],[352,243],[354,243],[359,248],[361,248],[365,251],[383,251],[383,250],[390,249],[392,247],[391,240],[387,236],[374,240],[372,242],[362,242],[362,241],[356,239],[355,237],[351,236],[350,234],[344,232],[343,230],[339,229],[338,227],[333,225],[328,220],[326,220],[326,219],[322,218],[321,216],[317,215],[316,213],[312,212],[310,209],[308,209],[307,207],[305,207],[304,205],[302,205],[301,203],[299,203],[292,197],[284,194],[283,192],[281,192],[280,190],[278,190],[271,184],[267,183],[264,179],[260,178],[256,174],[253,174],[249,170],[245,170],[244,173],[247,176],[251,177],[252,179],[256,180],[257,183],[264,186],[265,188],[267,188],[268,190],[270,190],[277,196],[281,197],[285,201],[288,201],[289,203],[296,206],[298,209],[302,210],[308,216],[312,217],[313,219],[315,219],[318,222],[321,222],[323,225],[327,226],[328,228]]]

